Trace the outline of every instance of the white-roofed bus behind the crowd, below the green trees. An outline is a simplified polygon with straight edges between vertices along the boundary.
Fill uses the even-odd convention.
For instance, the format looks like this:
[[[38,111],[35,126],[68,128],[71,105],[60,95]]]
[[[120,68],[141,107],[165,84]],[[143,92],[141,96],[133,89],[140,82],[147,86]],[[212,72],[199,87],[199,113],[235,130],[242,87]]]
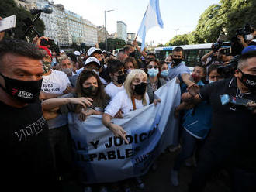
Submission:
[[[180,46],[184,50],[183,60],[185,61],[186,66],[195,67],[196,63],[200,63],[202,56],[212,50],[212,44],[213,43],[203,43]],[[168,55],[172,53],[172,50],[175,49],[175,47],[176,46],[156,47],[154,49],[154,53],[156,54],[158,60],[165,60],[165,57],[168,57]]]

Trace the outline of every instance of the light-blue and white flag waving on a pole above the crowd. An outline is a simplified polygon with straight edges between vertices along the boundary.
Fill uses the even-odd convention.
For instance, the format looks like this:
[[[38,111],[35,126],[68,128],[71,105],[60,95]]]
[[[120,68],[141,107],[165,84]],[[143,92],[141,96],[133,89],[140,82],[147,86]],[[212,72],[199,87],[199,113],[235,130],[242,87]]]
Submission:
[[[147,5],[147,11],[145,12],[144,18],[140,24],[140,29],[137,35],[142,39],[141,50],[143,50],[145,47],[147,31],[153,26],[160,26],[161,28],[164,27],[159,9],[159,0],[150,0],[149,5]]]

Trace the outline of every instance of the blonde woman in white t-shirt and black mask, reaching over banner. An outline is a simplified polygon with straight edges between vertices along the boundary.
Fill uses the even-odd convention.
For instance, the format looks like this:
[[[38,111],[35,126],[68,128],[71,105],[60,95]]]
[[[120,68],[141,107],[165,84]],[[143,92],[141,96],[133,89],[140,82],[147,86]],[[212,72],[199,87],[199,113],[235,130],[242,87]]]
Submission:
[[[157,100],[154,101],[154,105]],[[149,97],[147,94],[147,74],[143,70],[132,70],[126,77],[124,82],[124,90],[120,91],[109,105],[105,108],[102,116],[102,123],[109,128],[115,136],[122,137],[126,143],[126,131],[119,125],[114,124],[111,119],[122,111],[122,114],[143,108],[149,105]]]

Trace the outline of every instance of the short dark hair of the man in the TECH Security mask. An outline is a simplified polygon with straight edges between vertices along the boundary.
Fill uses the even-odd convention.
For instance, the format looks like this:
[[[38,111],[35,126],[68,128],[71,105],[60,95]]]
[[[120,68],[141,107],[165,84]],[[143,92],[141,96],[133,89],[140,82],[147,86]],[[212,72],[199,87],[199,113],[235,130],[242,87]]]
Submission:
[[[4,39],[0,41],[0,62],[7,53],[35,60],[43,59],[43,53],[38,47],[20,39]]]

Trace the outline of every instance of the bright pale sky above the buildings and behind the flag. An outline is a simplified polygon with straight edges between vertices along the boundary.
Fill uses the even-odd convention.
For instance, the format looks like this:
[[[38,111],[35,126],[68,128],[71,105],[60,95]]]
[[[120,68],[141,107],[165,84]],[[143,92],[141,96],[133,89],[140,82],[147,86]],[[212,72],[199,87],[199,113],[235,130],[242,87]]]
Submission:
[[[149,1],[54,0],[55,4],[61,3],[65,9],[81,15],[97,26],[104,25],[104,10],[114,9],[112,12],[106,12],[106,26],[109,33],[116,32],[116,21],[125,22],[128,33],[137,33]],[[202,12],[209,5],[218,2],[219,0],[159,0],[164,29],[159,27],[150,29],[146,41],[154,41],[154,44],[167,43],[176,32],[184,34],[193,31]]]

